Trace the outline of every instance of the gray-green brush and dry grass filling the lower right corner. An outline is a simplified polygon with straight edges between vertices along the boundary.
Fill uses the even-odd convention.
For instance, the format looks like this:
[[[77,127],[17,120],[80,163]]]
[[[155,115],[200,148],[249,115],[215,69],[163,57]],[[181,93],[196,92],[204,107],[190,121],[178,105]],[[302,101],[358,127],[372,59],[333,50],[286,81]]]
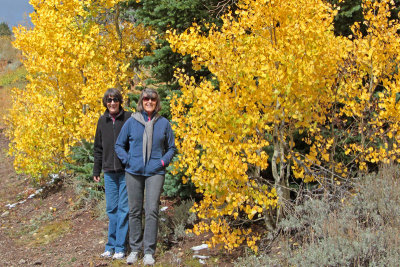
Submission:
[[[399,244],[400,169],[386,166],[342,199],[309,196],[280,223],[275,242],[236,266],[398,266]]]

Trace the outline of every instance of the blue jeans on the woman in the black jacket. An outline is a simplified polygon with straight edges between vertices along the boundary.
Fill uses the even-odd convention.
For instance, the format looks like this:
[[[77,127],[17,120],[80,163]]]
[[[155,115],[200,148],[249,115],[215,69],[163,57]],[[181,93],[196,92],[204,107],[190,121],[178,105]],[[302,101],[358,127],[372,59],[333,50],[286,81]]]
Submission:
[[[104,173],[106,211],[108,216],[108,241],[105,251],[125,252],[128,233],[128,194],[124,172]]]

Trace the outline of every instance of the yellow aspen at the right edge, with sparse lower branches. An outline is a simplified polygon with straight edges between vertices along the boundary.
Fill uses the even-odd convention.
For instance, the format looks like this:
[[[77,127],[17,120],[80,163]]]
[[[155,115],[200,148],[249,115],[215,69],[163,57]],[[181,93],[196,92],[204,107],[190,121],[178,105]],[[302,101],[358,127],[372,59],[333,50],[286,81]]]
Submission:
[[[309,132],[310,153],[303,157],[303,166],[327,166],[330,177],[324,177],[331,183],[367,172],[368,166],[400,161],[400,24],[390,19],[394,7],[389,0],[363,1],[364,29],[353,25],[351,42],[343,51],[348,56],[338,69],[335,108],[327,112],[327,124]],[[302,169],[295,166],[296,177],[320,178]]]

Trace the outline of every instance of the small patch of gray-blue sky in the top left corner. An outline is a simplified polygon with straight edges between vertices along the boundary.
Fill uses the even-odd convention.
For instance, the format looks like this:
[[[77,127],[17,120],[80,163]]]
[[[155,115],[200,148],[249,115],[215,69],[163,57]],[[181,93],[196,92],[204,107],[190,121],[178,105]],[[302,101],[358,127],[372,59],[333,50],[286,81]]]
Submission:
[[[33,7],[29,0],[0,0],[0,22],[6,22],[10,28],[30,21],[29,14]]]

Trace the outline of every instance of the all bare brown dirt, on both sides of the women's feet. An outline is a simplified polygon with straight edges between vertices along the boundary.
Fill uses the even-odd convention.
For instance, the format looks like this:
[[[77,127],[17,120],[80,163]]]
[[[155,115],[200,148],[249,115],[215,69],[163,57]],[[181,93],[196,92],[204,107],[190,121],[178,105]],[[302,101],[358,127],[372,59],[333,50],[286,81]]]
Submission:
[[[27,177],[15,173],[12,158],[6,155],[8,143],[0,128],[0,266],[127,266],[125,260],[99,257],[107,219],[99,219],[90,208],[75,210],[72,185],[60,182],[46,194],[28,198],[36,189]],[[7,206],[20,201],[25,202]],[[194,259],[191,247],[204,240],[187,237],[158,249],[156,266],[232,266],[233,255],[216,249],[200,252],[210,256],[204,264]]]

